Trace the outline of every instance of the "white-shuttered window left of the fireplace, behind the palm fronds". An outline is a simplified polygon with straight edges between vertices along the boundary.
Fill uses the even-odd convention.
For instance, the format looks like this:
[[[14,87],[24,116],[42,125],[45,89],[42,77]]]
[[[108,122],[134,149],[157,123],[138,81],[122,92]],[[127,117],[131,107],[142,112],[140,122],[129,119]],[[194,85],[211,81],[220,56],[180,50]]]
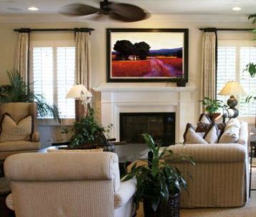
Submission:
[[[66,99],[67,91],[75,84],[75,43],[32,41],[31,54],[34,93],[42,94],[48,104],[57,105],[61,118],[75,118],[75,101]]]

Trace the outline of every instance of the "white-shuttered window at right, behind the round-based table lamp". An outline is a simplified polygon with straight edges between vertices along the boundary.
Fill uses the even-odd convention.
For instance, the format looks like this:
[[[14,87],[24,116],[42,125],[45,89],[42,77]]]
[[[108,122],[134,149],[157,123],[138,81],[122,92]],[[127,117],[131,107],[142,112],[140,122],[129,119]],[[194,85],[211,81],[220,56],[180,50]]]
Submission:
[[[218,41],[217,93],[227,81],[238,81],[247,95],[256,96],[256,78],[251,78],[245,66],[256,63],[255,41]],[[255,116],[256,102],[246,103],[246,96],[236,96],[239,99],[240,116]],[[224,102],[229,96],[219,96]]]

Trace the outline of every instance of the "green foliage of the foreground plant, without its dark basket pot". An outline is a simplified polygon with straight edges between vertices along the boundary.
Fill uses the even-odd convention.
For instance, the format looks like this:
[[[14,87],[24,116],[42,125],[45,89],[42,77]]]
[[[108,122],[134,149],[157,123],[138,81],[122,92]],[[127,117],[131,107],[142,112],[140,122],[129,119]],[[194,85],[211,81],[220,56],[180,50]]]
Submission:
[[[179,193],[182,188],[186,189],[186,181],[181,172],[171,161],[189,161],[194,164],[193,158],[185,155],[176,155],[171,150],[156,144],[147,133],[143,134],[152,158],[148,158],[146,164],[137,166],[135,163],[131,172],[123,177],[123,181],[136,177],[136,201],[147,200],[151,203],[153,211],[156,211],[159,203],[167,203],[170,195]]]

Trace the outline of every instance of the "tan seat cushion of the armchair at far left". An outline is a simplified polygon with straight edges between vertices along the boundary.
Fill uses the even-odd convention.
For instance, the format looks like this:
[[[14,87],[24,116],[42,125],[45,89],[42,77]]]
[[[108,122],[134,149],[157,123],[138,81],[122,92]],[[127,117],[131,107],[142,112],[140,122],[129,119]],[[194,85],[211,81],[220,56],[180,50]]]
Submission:
[[[40,143],[31,141],[4,141],[0,143],[0,152],[36,150],[40,148]]]

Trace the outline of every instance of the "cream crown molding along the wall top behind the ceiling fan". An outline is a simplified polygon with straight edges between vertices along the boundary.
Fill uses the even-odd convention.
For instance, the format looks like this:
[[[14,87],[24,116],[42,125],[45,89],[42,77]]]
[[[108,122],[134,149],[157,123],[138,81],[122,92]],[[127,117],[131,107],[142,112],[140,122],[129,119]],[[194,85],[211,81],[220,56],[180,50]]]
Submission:
[[[211,15],[211,14],[152,14],[143,22],[169,21],[169,22],[198,22],[198,23],[240,23],[250,24],[246,15]],[[21,14],[21,15],[1,15],[0,23],[65,23],[82,22],[91,23],[95,21],[86,20],[85,16],[70,17],[61,14]],[[108,23],[106,21],[106,23]],[[115,21],[112,21],[115,22]]]

